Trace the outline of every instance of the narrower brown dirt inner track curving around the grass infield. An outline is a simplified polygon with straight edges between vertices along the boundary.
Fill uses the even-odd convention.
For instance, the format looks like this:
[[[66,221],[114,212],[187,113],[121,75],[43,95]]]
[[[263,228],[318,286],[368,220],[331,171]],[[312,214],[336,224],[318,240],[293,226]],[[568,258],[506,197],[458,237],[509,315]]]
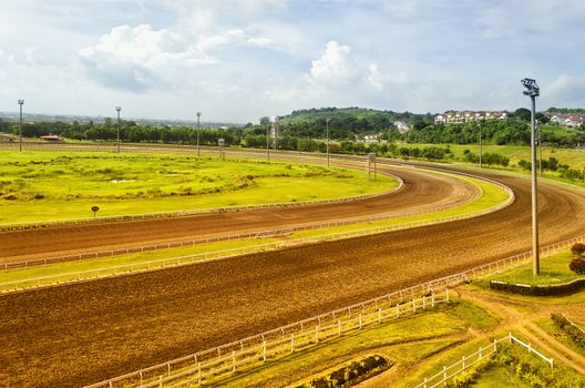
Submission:
[[[226,233],[286,228],[332,219],[398,215],[456,204],[476,194],[475,187],[447,175],[390,167],[381,167],[380,171],[388,171],[404,180],[402,190],[338,204],[0,232],[0,263],[212,237]]]

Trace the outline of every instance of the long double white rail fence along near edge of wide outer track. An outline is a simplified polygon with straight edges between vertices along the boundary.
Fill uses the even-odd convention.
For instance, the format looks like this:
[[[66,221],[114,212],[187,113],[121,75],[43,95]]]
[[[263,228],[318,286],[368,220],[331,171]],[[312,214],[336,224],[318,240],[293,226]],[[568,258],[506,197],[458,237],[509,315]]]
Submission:
[[[585,236],[552,244],[542,248],[541,253],[543,255],[556,253],[574,243],[583,241],[585,241]],[[365,316],[370,319],[368,320],[370,324],[373,324],[374,321],[379,323],[384,318],[390,317],[399,318],[404,312],[410,313],[415,312],[417,309],[420,310],[421,306],[424,309],[429,306],[434,306],[434,304],[439,303],[438,300],[449,302],[449,287],[469,283],[471,279],[496,274],[511,267],[522,265],[531,258],[531,252],[506,257],[454,275],[421,283],[360,304],[283,326],[260,335],[104,380],[91,385],[88,388],[127,386],[179,387],[184,385],[202,384],[205,379],[229,376],[245,364],[253,367],[254,365],[260,365],[266,361],[268,356],[275,357],[277,353],[286,355],[295,351],[295,349],[298,349],[299,346],[301,346],[298,341],[299,338],[301,338],[299,337],[299,333],[305,333],[305,345],[308,345],[311,344],[311,340],[312,343],[317,343],[318,340],[325,339],[321,334],[322,327],[328,327],[327,333],[329,333],[330,336],[339,336],[340,327],[341,329],[347,327],[351,327],[351,329],[363,327],[366,321]],[[444,297],[442,298],[439,297],[441,293],[444,293]],[[409,298],[410,300],[408,300]],[[380,310],[383,310],[384,313],[380,314]],[[353,326],[346,326],[346,324],[341,324],[340,326],[339,320],[341,316],[347,316],[347,320],[352,321]],[[337,331],[335,331],[333,327],[337,327]],[[294,331],[294,328],[300,331]],[[526,346],[525,344],[523,345]],[[530,346],[526,347],[530,348]],[[274,353],[269,353],[270,349]],[[533,349],[533,351],[536,350]],[[249,359],[245,358],[243,360],[239,357],[244,357],[244,355],[252,356]],[[175,382],[173,384],[173,381]]]

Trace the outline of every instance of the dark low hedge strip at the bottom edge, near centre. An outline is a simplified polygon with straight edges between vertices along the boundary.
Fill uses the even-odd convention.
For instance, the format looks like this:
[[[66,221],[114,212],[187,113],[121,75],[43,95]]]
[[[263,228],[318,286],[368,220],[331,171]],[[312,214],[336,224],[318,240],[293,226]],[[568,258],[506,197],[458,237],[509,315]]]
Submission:
[[[352,361],[339,369],[317,377],[297,388],[339,388],[352,386],[368,377],[377,375],[392,366],[392,363],[382,356],[369,356],[359,361]]]

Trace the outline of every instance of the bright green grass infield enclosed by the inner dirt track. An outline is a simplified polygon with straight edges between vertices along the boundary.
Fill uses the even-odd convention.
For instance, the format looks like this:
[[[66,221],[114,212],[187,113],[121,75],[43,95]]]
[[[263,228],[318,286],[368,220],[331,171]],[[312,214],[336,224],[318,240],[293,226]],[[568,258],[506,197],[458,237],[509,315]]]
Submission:
[[[398,183],[359,170],[184,154],[0,152],[0,224],[331,200]]]

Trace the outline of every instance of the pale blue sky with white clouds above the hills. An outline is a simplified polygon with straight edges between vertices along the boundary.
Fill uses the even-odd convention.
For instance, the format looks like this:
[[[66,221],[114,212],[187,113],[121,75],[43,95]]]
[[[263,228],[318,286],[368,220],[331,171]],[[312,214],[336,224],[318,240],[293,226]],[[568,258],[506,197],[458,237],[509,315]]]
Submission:
[[[0,111],[585,108],[579,0],[0,0]]]

